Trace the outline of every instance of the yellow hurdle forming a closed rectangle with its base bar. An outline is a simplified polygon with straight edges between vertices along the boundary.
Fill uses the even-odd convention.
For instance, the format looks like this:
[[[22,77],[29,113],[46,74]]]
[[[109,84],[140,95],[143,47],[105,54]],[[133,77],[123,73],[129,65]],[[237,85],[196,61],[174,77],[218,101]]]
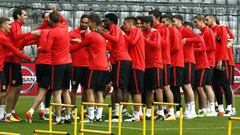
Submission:
[[[108,116],[108,131],[100,131],[100,130],[90,130],[90,129],[84,129],[84,106],[102,106],[102,107],[108,107],[109,108],[109,116]],[[82,102],[81,105],[81,126],[80,126],[80,135],[84,135],[84,133],[94,133],[94,134],[105,134],[105,135],[113,135],[112,133],[112,106],[109,104],[103,104],[103,103],[89,103],[89,102]]]

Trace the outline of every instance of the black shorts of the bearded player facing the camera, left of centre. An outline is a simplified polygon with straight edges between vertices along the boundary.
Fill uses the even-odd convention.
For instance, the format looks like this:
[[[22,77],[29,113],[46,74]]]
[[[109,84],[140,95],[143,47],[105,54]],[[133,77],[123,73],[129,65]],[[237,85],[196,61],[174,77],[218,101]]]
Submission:
[[[80,84],[83,88],[87,87],[87,77],[89,74],[89,67],[72,67],[72,90],[77,90]]]

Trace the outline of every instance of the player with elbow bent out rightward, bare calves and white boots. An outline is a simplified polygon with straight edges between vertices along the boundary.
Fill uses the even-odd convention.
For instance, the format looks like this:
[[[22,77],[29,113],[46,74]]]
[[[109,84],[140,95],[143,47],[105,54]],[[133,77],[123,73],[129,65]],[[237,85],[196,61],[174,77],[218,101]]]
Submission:
[[[186,102],[185,116],[187,119],[195,118],[195,102],[192,84],[195,80],[195,58],[193,43],[200,42],[199,37],[194,34],[189,28],[184,27],[183,17],[181,15],[173,16],[173,25],[179,30],[182,35],[183,53],[184,53],[184,98]]]

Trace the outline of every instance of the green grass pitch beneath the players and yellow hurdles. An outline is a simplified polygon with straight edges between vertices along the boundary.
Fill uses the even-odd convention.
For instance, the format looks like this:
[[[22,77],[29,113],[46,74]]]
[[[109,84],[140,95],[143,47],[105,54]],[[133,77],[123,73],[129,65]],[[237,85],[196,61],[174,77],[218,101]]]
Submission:
[[[25,122],[25,113],[33,103],[34,97],[20,97],[16,111],[23,118],[20,122],[4,123],[0,122],[1,132],[15,132],[21,135],[31,135],[34,129],[48,130],[48,121],[40,120],[38,117],[38,109],[33,115],[33,123]],[[80,104],[80,98],[78,98]],[[107,98],[106,102],[110,102]],[[236,109],[238,116],[240,115],[240,96],[236,98]],[[107,108],[104,109],[104,114],[107,114]],[[193,120],[183,120],[183,135],[226,135],[227,134],[227,117],[214,118],[196,118]],[[151,121],[147,121],[147,135],[151,134]],[[87,129],[107,130],[108,123],[95,122],[93,124],[85,124]],[[78,128],[80,124],[78,123]],[[155,121],[155,135],[178,135],[179,120],[176,121]],[[113,132],[117,134],[118,124],[113,123]],[[54,125],[53,130],[67,131],[73,134],[73,124]],[[239,135],[240,121],[233,121],[232,135]],[[142,122],[123,122],[122,135],[141,135]]]

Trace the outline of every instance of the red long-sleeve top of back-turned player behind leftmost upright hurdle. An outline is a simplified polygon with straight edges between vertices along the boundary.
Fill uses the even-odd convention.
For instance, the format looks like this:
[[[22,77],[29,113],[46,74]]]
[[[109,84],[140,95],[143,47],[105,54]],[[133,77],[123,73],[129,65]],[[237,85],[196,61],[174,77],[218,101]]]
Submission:
[[[53,26],[47,35],[46,45],[39,51],[52,53],[52,65],[72,63],[67,26],[60,23]]]

